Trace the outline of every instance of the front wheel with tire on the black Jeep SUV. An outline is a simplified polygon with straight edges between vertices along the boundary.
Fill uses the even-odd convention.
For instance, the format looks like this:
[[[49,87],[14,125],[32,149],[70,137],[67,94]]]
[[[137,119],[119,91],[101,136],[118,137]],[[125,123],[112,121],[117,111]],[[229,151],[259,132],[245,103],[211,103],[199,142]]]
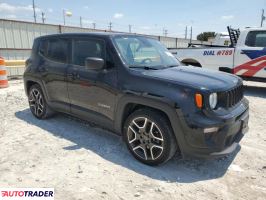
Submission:
[[[124,141],[131,154],[147,165],[170,160],[177,151],[177,142],[168,119],[160,112],[140,109],[124,123]]]

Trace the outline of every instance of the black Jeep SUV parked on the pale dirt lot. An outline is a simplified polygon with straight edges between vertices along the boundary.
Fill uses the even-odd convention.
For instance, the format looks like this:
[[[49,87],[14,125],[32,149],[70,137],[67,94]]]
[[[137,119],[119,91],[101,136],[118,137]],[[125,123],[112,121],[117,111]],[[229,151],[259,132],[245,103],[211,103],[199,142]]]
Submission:
[[[219,157],[248,129],[242,80],[182,66],[157,40],[73,33],[35,39],[24,83],[32,114],[69,113],[122,135],[149,165],[176,152]]]

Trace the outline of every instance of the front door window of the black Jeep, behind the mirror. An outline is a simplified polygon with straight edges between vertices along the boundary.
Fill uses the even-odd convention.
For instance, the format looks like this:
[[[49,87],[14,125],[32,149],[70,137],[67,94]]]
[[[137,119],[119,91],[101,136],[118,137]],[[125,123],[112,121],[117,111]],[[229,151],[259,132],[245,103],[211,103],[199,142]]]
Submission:
[[[105,59],[105,45],[102,40],[95,39],[75,39],[73,41],[72,64],[85,66],[87,57]]]

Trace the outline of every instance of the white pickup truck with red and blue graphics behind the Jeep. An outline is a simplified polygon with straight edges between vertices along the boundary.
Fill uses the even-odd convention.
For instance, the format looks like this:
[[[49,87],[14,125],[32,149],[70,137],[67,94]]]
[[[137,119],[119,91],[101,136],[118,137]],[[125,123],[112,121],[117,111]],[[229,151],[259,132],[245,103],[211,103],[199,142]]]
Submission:
[[[266,28],[246,28],[240,33],[228,27],[228,33],[230,46],[190,44],[170,51],[187,65],[266,82]]]

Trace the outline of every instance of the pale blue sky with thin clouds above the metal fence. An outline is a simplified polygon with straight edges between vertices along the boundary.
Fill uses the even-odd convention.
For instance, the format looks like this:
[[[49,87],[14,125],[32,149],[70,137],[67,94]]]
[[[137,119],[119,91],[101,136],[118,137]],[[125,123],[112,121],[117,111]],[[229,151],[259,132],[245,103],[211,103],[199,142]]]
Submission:
[[[0,0],[0,18],[33,20],[32,0]],[[193,26],[193,37],[203,31],[226,31],[227,25],[236,28],[259,26],[261,9],[266,0],[35,0],[37,21],[41,12],[47,23],[62,24],[62,10],[72,12],[66,18],[67,25],[162,35],[167,29],[169,36],[184,37],[185,27]],[[266,22],[265,22],[266,24]]]

